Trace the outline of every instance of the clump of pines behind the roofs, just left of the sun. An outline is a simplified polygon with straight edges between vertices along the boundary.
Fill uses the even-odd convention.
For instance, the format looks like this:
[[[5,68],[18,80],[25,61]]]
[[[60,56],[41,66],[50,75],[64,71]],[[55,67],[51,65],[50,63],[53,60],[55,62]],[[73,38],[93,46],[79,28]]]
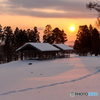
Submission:
[[[65,43],[67,41],[67,35],[64,30],[55,28],[52,30],[51,25],[47,25],[43,35],[43,42],[46,43]]]

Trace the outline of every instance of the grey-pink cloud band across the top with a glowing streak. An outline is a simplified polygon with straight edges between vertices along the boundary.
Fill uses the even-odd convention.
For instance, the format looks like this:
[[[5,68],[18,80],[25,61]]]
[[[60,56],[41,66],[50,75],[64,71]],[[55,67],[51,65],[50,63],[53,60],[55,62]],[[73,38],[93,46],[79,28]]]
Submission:
[[[42,18],[93,18],[95,16],[91,16],[90,10],[86,9],[88,2],[88,0],[1,0],[0,12]]]

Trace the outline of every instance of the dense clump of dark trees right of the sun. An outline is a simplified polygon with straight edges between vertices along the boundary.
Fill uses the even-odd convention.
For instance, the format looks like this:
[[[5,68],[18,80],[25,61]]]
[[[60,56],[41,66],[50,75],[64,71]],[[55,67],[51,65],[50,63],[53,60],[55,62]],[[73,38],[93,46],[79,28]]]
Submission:
[[[92,25],[79,26],[76,40],[74,43],[74,49],[79,55],[85,56],[88,53],[91,55],[100,54],[100,34],[96,28]]]

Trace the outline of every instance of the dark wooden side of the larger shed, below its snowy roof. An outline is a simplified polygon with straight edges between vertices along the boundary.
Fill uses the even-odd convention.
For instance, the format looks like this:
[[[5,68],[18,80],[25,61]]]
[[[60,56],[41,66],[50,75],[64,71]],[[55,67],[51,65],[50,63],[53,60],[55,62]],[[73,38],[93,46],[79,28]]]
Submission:
[[[20,51],[18,53],[21,60],[43,60],[43,59],[55,59],[57,51],[38,52],[32,50]]]

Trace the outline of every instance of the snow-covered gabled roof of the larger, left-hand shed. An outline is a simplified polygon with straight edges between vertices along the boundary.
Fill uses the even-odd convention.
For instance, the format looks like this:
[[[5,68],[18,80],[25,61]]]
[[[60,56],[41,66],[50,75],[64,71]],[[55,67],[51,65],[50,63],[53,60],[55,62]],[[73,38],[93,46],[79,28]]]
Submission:
[[[21,46],[20,48],[18,48],[16,51],[19,51],[22,48],[24,48],[26,46],[29,46],[29,45],[37,48],[40,51],[59,51],[58,48],[52,46],[49,43],[32,43],[32,42],[28,42],[28,43],[24,44],[23,46]]]

